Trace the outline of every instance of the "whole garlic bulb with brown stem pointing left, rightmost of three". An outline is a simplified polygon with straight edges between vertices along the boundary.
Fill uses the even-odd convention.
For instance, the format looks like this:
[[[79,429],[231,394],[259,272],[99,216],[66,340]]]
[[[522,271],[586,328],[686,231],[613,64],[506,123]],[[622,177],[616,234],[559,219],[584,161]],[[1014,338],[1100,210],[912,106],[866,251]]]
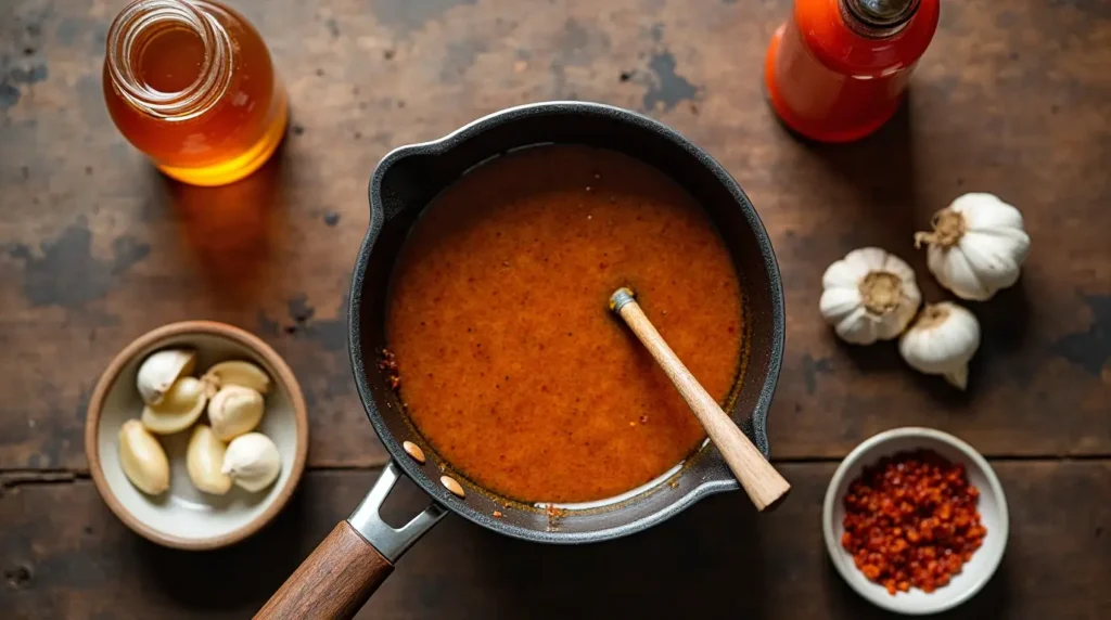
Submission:
[[[970,193],[933,215],[933,231],[917,233],[942,286],[958,297],[982,302],[1019,279],[1030,251],[1022,213],[994,194]]]

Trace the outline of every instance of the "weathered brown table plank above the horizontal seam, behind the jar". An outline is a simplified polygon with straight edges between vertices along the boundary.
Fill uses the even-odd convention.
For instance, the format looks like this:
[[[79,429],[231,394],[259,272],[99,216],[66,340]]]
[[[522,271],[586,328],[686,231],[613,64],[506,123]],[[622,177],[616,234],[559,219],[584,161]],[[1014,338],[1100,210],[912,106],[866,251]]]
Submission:
[[[391,146],[559,98],[648,111],[750,193],[788,302],[777,455],[838,456],[907,424],[995,455],[1111,454],[1108,3],[947,2],[908,108],[835,149],[794,141],[762,102],[764,44],[789,3],[240,0],[293,126],[259,175],[198,190],[152,172],[106,114],[100,59],[119,2],[3,2],[0,468],[83,468],[83,405],[112,353],[202,317],[290,360],[313,465],[381,464],[343,324],[370,171]],[[941,298],[911,233],[970,190],[1020,205],[1033,252],[1019,287],[974,306],[984,346],[958,395],[893,346],[838,344],[817,304],[825,265],[864,244],[911,258]]]

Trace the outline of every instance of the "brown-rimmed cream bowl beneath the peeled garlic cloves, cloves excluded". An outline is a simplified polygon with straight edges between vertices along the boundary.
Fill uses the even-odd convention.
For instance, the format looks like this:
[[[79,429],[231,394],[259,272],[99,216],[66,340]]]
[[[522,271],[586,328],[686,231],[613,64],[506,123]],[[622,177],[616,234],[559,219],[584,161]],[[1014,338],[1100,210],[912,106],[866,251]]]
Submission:
[[[233,485],[226,495],[198,490],[186,470],[192,426],[154,436],[170,463],[168,490],[147,495],[123,474],[120,429],[138,419],[143,408],[137,387],[139,366],[152,353],[171,348],[196,352],[194,376],[219,362],[240,359],[258,365],[270,377],[266,413],[256,428],[273,440],[281,458],[281,471],[269,487],[250,492]],[[204,421],[202,415],[200,423]],[[289,365],[257,336],[222,323],[173,323],[139,336],[109,362],[89,400],[84,448],[97,490],[124,525],[166,547],[217,549],[259,531],[292,496],[309,448],[304,396]]]

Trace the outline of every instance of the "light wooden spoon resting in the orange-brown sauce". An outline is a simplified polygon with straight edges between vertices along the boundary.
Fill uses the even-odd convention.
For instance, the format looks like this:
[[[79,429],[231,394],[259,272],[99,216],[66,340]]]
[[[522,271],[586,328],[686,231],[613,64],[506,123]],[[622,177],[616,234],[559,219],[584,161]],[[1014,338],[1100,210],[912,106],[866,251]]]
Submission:
[[[791,485],[768,463],[763,454],[741,433],[725,411],[721,410],[718,402],[710,396],[702,384],[698,383],[687,366],[683,366],[675,352],[671,350],[652,322],[644,316],[644,311],[633,298],[632,289],[622,287],[610,295],[610,309],[629,324],[671,383],[675,385],[675,389],[682,395],[683,400],[687,400],[687,405],[702,424],[710,440],[718,446],[721,456],[733,470],[733,476],[737,476],[737,480],[744,487],[744,492],[749,495],[757,510],[771,507],[787,497]]]

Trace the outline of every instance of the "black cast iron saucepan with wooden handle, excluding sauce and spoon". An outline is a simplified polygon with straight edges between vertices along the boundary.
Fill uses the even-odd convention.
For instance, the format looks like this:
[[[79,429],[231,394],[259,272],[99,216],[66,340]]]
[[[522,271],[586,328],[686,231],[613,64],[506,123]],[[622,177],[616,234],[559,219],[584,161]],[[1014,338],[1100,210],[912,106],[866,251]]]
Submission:
[[[639,159],[674,179],[709,212],[740,276],[749,326],[747,358],[727,410],[768,455],[765,419],[783,354],[783,293],[768,234],[741,187],[721,164],[687,139],[627,110],[580,102],[504,110],[434,142],[397,149],[374,170],[370,230],[351,283],[349,348],[359,397],[393,461],[354,512],[336,526],[259,617],[351,617],[393,570],[398,558],[448,510],[526,540],[593,542],[640,531],[708,495],[738,488],[712,446],[704,446],[669,480],[637,489],[620,501],[571,510],[554,527],[541,508],[507,502],[466,481],[467,494],[461,499],[440,484],[442,461],[408,423],[389,377],[378,365],[388,344],[384,322],[390,273],[410,226],[444,187],[491,157],[551,143],[599,146]],[[603,293],[600,304],[609,294]],[[423,448],[427,463],[421,465],[406,454],[402,443],[407,440]],[[379,518],[379,507],[402,474],[421,487],[432,504],[407,526],[394,529]],[[501,517],[494,518],[494,511]]]

